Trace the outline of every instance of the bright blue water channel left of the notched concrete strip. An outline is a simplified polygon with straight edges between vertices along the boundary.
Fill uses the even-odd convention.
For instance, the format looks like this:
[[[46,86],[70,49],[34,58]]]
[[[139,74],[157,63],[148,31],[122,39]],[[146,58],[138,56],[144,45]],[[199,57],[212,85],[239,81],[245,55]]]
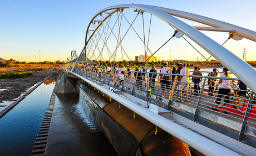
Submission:
[[[54,87],[41,84],[0,119],[0,155],[31,154]]]

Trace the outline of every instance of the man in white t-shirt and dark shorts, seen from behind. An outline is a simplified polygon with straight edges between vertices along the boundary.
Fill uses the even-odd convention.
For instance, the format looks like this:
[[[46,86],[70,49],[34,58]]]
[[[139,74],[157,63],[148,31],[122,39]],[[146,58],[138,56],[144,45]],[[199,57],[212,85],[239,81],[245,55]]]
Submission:
[[[168,90],[169,92],[169,96],[170,96],[170,80],[171,80],[171,77],[170,75],[165,75],[165,74],[168,74],[169,73],[169,70],[170,68],[168,67],[168,62],[165,62],[164,63],[164,67],[161,69],[160,71],[160,81],[161,81],[161,89],[162,89],[162,93],[163,93],[163,98],[165,97],[164,96],[164,93],[165,93],[165,89]]]

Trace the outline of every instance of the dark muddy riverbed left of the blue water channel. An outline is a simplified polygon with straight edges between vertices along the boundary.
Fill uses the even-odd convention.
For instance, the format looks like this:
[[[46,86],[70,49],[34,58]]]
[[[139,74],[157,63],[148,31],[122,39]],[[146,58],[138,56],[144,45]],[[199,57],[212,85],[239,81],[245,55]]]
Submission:
[[[48,76],[50,74],[34,73],[34,75],[19,79],[0,79],[0,103],[13,101],[13,98],[18,98],[21,93],[26,92],[27,89]]]

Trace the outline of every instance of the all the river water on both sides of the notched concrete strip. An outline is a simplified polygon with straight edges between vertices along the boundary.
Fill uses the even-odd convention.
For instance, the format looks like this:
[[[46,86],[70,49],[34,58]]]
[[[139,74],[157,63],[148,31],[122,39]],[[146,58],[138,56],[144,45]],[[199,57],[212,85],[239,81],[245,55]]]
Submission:
[[[57,76],[50,77],[0,118],[1,156],[32,153],[56,80]],[[52,136],[48,137],[46,152],[51,155],[117,155],[86,108],[85,93],[56,96],[53,115],[57,113],[52,118],[49,133]]]

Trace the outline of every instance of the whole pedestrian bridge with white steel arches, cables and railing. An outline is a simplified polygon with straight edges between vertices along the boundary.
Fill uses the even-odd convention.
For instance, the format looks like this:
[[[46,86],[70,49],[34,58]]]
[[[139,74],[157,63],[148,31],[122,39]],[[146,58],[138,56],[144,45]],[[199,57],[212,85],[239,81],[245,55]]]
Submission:
[[[144,35],[141,37],[132,26],[135,19],[129,22],[125,17],[124,10],[126,9],[132,9],[132,12],[136,12],[135,19],[138,16],[142,16]],[[154,15],[168,23],[170,28],[175,30],[173,35],[168,34],[170,39],[164,42],[163,45],[159,45],[159,49],[155,51],[150,51],[149,41],[145,40],[144,22],[146,20],[144,20],[144,17],[146,13],[149,14],[150,20],[148,20],[148,23],[150,25],[152,15]],[[116,18],[114,18],[114,15]],[[210,25],[211,27],[191,27],[191,25],[174,16]],[[114,26],[111,26],[110,19],[113,20],[113,18]],[[127,20],[126,32],[121,31],[121,28],[123,28],[121,27],[122,20]],[[227,78],[182,75],[190,77],[188,92],[180,91],[181,89],[177,85],[179,81],[175,78],[170,80],[170,96],[168,89],[164,90],[163,96],[161,79],[156,77],[153,89],[152,80],[149,77],[150,72],[147,70],[148,59],[143,64],[136,66],[129,59],[129,53],[125,49],[125,47],[127,48],[126,45],[129,46],[129,42],[125,43],[123,40],[129,29],[133,29],[136,32],[135,35],[139,36],[144,50],[142,52],[145,52],[145,55],[150,53],[151,56],[157,54],[157,51],[166,46],[166,43],[172,38],[184,38],[183,35],[186,35],[211,56],[218,59],[221,64],[228,67],[234,77],[237,77],[228,79],[235,81],[231,85],[232,92],[228,96],[229,102],[224,101],[223,95],[220,98],[221,106],[216,105],[218,90],[215,85],[210,86],[208,84],[209,79],[217,79],[216,82],[218,82],[219,79]],[[116,34],[114,30],[116,30]],[[151,30],[150,27],[149,30]],[[228,39],[240,40],[247,38],[253,41],[256,40],[256,33],[251,30],[200,15],[137,4],[112,6],[103,9],[92,18],[86,32],[85,47],[78,58],[69,60],[63,66],[63,71],[66,72],[66,77],[75,77],[89,86],[92,91],[96,90],[105,98],[109,98],[110,101],[115,100],[120,105],[129,108],[134,112],[134,116],[136,114],[140,115],[155,124],[156,133],[157,127],[160,127],[205,155],[255,155],[256,100],[254,92],[256,91],[256,85],[253,80],[255,80],[256,71],[249,64],[225,49],[224,46],[199,32],[199,30],[228,32]],[[109,40],[110,36],[115,39],[115,44]],[[150,33],[148,33],[147,39],[149,39],[149,36]],[[115,47],[114,53],[111,53],[110,47]],[[195,50],[199,52],[196,48]],[[110,64],[111,69],[113,69],[114,66],[118,65],[116,63],[118,52],[120,52],[122,60],[126,56],[127,60],[130,61],[130,75],[127,71],[118,69],[106,70],[106,68],[99,67]],[[205,58],[205,60],[208,61],[209,59]],[[136,74],[139,71],[134,71],[134,69],[141,66],[146,66],[146,72],[144,72],[145,76],[140,77]],[[124,73],[124,80],[119,80],[118,75],[121,72]],[[180,76],[176,74],[165,75],[170,75],[170,77]],[[192,77],[200,77],[201,79],[198,95],[194,95]],[[248,90],[244,91],[246,92],[245,96],[239,95],[240,90],[237,85],[239,80],[248,86]],[[209,94],[209,87],[214,87],[213,95]],[[188,100],[186,100],[187,97]]]

